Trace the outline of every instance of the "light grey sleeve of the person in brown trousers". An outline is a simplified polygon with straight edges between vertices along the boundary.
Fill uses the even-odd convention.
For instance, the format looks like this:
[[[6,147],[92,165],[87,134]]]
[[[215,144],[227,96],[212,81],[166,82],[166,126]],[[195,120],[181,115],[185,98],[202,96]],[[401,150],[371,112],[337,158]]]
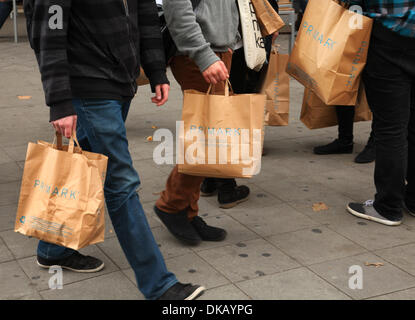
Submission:
[[[220,60],[203,36],[190,0],[164,0],[163,10],[178,51],[189,56],[200,71]]]

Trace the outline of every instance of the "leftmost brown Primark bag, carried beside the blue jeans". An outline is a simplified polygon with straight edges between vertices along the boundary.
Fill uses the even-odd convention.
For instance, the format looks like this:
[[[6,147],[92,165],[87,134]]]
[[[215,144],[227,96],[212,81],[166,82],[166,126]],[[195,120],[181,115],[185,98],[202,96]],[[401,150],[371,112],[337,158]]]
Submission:
[[[29,143],[15,231],[78,250],[104,241],[108,158],[44,141]]]

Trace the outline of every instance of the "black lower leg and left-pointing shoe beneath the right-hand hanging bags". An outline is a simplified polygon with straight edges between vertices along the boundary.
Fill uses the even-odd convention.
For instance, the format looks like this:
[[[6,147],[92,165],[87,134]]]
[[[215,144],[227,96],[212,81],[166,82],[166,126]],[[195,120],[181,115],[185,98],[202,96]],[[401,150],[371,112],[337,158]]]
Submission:
[[[338,121],[338,138],[333,142],[314,148],[319,155],[343,154],[353,152],[353,124],[355,108],[353,106],[336,106]]]

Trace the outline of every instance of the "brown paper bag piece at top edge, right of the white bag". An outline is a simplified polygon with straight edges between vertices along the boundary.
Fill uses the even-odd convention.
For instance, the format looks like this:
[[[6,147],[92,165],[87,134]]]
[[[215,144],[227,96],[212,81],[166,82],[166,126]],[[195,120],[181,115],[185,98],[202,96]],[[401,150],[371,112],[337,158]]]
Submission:
[[[268,36],[285,26],[279,14],[270,5],[268,0],[251,0],[258,18],[262,36]]]

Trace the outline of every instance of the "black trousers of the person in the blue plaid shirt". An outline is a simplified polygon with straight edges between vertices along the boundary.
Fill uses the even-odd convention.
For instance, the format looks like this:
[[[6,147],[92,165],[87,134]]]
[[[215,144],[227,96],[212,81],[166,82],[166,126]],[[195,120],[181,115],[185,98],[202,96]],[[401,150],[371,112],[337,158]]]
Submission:
[[[403,201],[415,207],[415,38],[375,23],[363,80],[376,143],[374,207],[400,217]]]

